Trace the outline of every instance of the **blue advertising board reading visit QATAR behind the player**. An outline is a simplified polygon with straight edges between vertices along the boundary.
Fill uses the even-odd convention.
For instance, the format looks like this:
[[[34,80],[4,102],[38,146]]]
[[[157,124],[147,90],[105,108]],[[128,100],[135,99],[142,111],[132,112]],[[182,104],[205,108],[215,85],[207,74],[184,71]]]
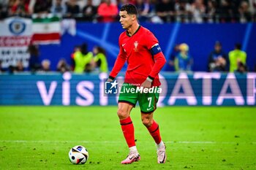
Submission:
[[[107,74],[0,75],[0,105],[116,105]],[[255,106],[256,74],[160,74],[162,106]],[[118,76],[117,83],[124,77]],[[122,93],[119,91],[119,93]]]

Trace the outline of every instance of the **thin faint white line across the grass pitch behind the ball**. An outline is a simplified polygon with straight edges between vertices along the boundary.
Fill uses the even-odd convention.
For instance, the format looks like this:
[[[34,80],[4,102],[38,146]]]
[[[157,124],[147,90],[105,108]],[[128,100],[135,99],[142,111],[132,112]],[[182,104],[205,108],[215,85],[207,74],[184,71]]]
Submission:
[[[115,144],[123,143],[121,141],[30,141],[30,140],[0,140],[0,143],[104,143],[104,144]],[[256,142],[213,142],[213,141],[166,141],[167,144],[256,144]]]

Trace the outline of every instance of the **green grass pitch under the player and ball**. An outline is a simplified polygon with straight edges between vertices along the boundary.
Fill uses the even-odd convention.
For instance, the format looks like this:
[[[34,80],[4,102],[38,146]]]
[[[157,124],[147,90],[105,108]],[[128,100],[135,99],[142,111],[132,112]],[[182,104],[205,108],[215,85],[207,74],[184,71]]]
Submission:
[[[167,162],[132,110],[141,160],[121,165],[127,144],[117,107],[0,107],[0,169],[256,169],[255,107],[162,107],[155,112]],[[70,147],[89,150],[69,163]]]

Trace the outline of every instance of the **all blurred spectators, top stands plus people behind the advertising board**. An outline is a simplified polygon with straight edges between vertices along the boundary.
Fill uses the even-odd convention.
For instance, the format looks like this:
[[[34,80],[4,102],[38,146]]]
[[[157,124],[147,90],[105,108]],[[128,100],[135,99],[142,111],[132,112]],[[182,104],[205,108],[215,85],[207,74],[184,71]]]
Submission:
[[[123,4],[135,4],[141,22],[151,23],[246,23],[255,21],[256,0],[0,0],[0,19],[13,15],[30,17],[33,14],[53,13],[62,18],[89,22],[118,21],[118,10]],[[56,70],[50,70],[49,60],[40,60],[37,45],[29,45],[31,72],[108,72],[104,48],[95,46],[90,52],[86,43],[74,47],[71,64],[63,58]],[[169,56],[166,56],[167,58]],[[192,72],[193,56],[189,45],[182,43],[173,48],[169,66],[176,72]],[[236,44],[233,51],[222,50],[216,42],[208,56],[208,72],[246,72],[246,52]],[[1,69],[1,61],[0,61]],[[0,72],[23,72],[22,62]],[[250,70],[254,70],[250,68]]]

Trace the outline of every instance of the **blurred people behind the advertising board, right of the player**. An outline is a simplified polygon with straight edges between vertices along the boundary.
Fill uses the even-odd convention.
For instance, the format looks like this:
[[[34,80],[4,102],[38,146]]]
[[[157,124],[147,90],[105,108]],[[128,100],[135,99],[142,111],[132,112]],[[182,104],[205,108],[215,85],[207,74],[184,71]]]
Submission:
[[[241,44],[237,43],[227,54],[222,50],[222,44],[217,41],[214,50],[208,55],[208,72],[247,72],[246,57],[246,52],[241,50]],[[168,64],[176,72],[192,72],[193,58],[189,54],[189,46],[186,43],[176,45]]]

